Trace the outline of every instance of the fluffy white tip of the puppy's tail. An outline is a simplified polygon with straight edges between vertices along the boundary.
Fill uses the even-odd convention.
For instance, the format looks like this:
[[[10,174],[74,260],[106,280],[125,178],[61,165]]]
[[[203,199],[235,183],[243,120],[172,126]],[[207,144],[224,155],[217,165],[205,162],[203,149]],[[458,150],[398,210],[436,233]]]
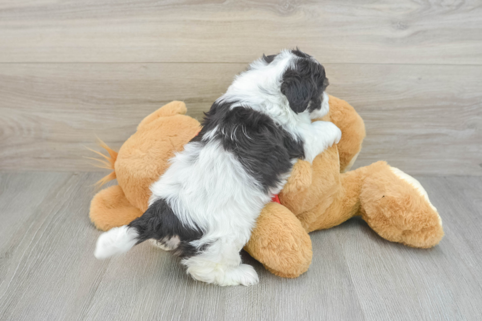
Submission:
[[[99,259],[107,259],[116,254],[129,251],[137,243],[138,233],[127,225],[113,228],[100,234],[95,245],[94,256]]]

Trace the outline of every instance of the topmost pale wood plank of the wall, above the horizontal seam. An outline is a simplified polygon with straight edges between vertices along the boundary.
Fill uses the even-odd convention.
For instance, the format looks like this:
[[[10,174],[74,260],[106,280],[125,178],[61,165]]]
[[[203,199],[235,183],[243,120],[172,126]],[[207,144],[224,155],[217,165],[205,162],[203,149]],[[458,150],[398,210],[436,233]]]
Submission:
[[[479,1],[2,1],[1,62],[482,63]]]

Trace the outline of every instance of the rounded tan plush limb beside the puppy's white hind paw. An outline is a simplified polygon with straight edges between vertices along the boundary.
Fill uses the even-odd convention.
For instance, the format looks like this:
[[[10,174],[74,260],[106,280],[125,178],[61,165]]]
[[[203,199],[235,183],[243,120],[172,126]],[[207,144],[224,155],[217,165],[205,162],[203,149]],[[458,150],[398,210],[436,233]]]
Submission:
[[[244,249],[271,273],[286,278],[306,272],[313,255],[300,221],[278,203],[269,203],[261,211]]]

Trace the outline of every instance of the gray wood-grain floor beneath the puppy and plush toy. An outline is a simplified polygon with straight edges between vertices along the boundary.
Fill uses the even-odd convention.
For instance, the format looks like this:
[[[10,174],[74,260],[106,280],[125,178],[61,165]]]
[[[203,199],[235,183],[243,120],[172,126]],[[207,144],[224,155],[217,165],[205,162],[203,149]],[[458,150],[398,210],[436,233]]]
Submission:
[[[147,243],[95,260],[88,209],[101,175],[0,174],[0,320],[481,320],[482,177],[417,176],[444,221],[433,249],[390,243],[353,219],[311,233],[300,278],[245,255],[260,283],[221,288]]]

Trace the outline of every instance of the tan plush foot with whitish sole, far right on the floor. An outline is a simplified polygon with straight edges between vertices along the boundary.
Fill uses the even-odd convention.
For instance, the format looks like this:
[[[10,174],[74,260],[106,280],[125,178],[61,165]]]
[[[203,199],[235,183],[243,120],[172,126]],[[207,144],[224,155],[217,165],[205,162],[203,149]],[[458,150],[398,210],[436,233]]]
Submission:
[[[421,248],[437,245],[444,236],[442,220],[422,185],[385,162],[368,168],[360,193],[363,220],[392,242]]]

